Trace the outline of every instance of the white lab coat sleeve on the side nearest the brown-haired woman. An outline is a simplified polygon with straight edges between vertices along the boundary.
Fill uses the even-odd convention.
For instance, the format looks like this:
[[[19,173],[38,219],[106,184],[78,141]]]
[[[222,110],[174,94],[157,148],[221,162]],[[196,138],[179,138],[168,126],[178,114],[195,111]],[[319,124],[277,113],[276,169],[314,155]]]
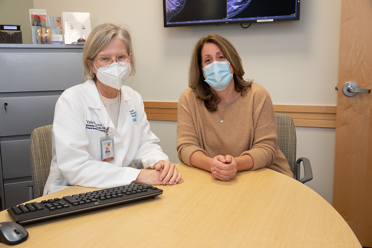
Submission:
[[[140,97],[141,116],[140,123],[143,125],[141,141],[134,158],[136,168],[154,168],[154,165],[159,160],[169,160],[168,156],[163,152],[159,143],[160,139],[150,130],[150,123],[147,120],[144,104]]]

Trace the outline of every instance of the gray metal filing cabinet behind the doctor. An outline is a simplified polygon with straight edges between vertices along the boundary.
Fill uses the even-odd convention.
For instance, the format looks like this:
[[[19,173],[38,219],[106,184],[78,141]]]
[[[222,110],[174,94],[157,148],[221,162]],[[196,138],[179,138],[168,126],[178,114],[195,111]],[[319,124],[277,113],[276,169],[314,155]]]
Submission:
[[[52,124],[65,89],[84,83],[82,55],[83,45],[0,44],[2,209],[28,200],[31,132]]]

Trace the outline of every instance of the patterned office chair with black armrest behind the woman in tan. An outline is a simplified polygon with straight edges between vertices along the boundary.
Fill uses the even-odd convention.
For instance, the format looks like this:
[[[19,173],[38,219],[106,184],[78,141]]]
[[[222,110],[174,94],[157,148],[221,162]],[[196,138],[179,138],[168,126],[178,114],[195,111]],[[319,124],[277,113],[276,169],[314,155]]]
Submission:
[[[310,161],[307,158],[299,158],[296,161],[296,129],[292,117],[286,114],[275,113],[275,118],[278,126],[278,146],[286,157],[295,179],[301,183],[312,180]],[[304,165],[305,175],[300,179],[301,162]]]

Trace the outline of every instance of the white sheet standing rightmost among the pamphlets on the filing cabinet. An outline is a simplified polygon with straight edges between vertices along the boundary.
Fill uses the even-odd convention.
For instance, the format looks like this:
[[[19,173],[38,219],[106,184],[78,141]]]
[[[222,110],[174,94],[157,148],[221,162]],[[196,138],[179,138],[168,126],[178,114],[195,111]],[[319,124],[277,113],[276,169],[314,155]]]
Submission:
[[[90,14],[86,12],[62,12],[65,44],[75,44],[80,38],[88,38],[91,31]]]

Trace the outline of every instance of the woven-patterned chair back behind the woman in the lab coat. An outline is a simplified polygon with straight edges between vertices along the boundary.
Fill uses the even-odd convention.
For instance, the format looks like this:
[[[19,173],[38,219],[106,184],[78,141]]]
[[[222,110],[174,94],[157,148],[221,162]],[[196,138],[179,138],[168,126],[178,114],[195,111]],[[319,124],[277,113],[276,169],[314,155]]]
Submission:
[[[52,161],[52,125],[36,128],[30,138],[30,162],[33,187],[29,186],[29,200],[41,197]],[[33,188],[33,190],[32,190]]]

